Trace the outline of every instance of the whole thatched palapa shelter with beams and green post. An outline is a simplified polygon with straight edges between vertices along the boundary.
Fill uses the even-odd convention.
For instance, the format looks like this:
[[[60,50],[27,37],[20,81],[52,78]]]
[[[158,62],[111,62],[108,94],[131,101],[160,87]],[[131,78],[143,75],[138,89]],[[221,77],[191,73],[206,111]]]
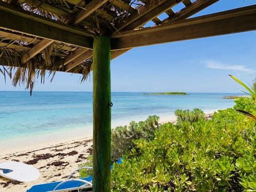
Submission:
[[[84,81],[93,70],[93,191],[110,191],[110,59],[137,46],[256,29],[256,5],[190,18],[215,2],[0,0],[0,71],[31,93],[47,71]]]

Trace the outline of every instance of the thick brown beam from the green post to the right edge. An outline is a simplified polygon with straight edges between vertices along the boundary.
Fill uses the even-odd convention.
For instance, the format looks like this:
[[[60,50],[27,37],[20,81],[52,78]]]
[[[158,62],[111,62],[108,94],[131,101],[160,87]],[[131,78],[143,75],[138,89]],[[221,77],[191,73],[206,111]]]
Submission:
[[[256,30],[256,5],[165,23],[111,37],[112,50]],[[152,38],[154,37],[154,38]]]

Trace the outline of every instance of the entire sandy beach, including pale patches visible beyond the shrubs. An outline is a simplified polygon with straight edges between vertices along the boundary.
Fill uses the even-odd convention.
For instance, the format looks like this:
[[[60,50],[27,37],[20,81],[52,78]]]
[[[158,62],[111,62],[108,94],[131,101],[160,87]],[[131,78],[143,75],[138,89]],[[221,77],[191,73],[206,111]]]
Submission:
[[[213,113],[207,111],[208,116]],[[175,116],[161,117],[159,122],[175,122]],[[113,126],[117,125],[113,123]],[[41,175],[33,182],[17,182],[0,177],[0,191],[26,191],[35,184],[65,180],[80,164],[87,161],[93,152],[92,144],[92,132],[78,132],[76,135],[66,132],[65,135],[43,135],[1,143],[0,162],[26,163],[36,167]]]

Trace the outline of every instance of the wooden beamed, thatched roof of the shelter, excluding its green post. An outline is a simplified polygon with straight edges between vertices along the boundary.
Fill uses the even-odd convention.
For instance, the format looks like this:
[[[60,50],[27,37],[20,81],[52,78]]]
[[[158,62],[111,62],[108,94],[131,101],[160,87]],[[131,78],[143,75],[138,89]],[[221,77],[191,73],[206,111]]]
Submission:
[[[0,65],[26,67],[32,61],[35,69],[86,75],[95,35],[110,37],[114,59],[137,46],[255,30],[256,5],[187,19],[215,2],[3,0]],[[174,12],[178,4],[183,8]],[[166,18],[159,19],[161,14]],[[40,56],[46,49],[51,55],[45,66]]]

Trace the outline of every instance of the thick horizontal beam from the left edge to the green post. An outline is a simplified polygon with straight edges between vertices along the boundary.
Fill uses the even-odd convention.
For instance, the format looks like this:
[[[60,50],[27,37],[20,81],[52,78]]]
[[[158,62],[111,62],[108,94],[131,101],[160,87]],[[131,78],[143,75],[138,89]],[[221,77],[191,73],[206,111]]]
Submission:
[[[0,2],[0,28],[92,49],[92,37],[86,30],[29,14]]]

